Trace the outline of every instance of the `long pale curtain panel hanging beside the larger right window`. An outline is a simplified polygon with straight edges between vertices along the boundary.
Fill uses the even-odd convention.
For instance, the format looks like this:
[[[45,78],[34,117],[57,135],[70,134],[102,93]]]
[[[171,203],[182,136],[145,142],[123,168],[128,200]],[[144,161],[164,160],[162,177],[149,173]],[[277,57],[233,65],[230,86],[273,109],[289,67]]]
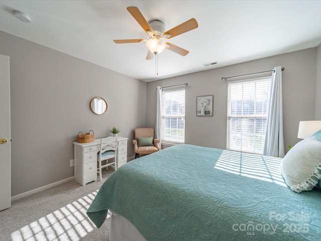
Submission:
[[[284,157],[283,113],[282,113],[282,70],[274,68],[272,73],[269,115],[263,155]]]

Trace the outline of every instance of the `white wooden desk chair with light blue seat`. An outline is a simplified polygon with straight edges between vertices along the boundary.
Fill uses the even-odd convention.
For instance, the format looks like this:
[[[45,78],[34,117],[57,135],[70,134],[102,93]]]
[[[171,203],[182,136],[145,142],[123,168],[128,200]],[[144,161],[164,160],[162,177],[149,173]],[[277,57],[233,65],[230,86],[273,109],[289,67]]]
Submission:
[[[117,137],[106,137],[102,138],[100,141],[100,150],[97,154],[97,162],[98,168],[97,173],[99,173],[100,181],[102,181],[101,177],[101,169],[104,167],[112,166],[114,167],[115,171],[117,170],[117,147],[118,140]],[[114,158],[113,162],[109,162],[109,159]],[[101,165],[101,162],[106,160],[105,165]]]

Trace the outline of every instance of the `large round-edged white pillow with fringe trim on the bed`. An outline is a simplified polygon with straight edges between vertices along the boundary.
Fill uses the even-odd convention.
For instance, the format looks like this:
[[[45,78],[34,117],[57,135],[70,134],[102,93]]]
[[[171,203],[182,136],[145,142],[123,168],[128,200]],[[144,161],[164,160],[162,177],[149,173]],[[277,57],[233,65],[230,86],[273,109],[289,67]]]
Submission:
[[[312,190],[321,179],[321,142],[310,137],[294,145],[282,160],[281,172],[292,191]]]

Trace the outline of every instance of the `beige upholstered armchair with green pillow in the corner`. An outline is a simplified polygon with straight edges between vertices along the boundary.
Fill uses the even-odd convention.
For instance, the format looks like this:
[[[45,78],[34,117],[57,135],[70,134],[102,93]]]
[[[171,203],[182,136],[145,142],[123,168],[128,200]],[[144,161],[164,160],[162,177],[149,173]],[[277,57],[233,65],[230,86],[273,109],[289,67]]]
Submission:
[[[152,128],[136,128],[134,144],[135,158],[139,157],[139,154],[151,154],[159,151],[159,139],[154,139],[154,129]]]

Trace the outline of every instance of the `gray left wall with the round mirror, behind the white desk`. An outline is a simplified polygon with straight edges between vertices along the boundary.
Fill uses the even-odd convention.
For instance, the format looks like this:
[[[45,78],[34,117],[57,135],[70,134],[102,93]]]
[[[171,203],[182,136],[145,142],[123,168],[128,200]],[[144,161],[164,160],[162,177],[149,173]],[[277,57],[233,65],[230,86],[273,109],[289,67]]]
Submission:
[[[129,138],[146,125],[146,83],[0,31],[0,54],[10,56],[12,195],[73,176],[78,132]],[[106,58],[111,56],[106,56]],[[90,100],[107,100],[96,115]]]

